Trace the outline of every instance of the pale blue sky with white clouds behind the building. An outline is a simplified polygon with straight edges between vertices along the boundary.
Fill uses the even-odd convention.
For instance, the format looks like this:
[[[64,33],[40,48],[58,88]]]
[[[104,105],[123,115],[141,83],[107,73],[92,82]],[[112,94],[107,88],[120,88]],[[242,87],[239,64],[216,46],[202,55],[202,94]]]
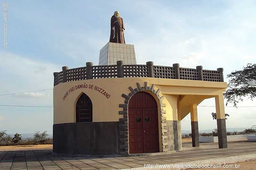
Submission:
[[[124,19],[125,42],[137,64],[216,70],[227,74],[256,63],[256,1],[2,1],[7,7],[7,48],[0,48],[0,94],[53,88],[62,66],[98,65],[110,18]],[[4,12],[5,8],[2,8]],[[4,14],[3,14],[4,15]],[[3,16],[4,17],[4,16]],[[3,21],[4,38],[4,21]],[[0,105],[52,106],[52,90],[0,96]],[[214,99],[198,106],[199,130],[217,127]],[[231,103],[228,106],[233,106]],[[238,106],[256,106],[245,98]],[[230,127],[256,124],[256,107],[226,107]],[[52,133],[53,108],[0,106],[0,131]],[[190,130],[190,114],[181,121]]]

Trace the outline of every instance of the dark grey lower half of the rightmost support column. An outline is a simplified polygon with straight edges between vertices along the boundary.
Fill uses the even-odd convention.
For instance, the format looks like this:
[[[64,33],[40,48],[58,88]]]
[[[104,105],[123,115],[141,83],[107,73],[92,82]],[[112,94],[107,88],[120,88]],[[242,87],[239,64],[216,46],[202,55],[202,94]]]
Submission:
[[[218,142],[219,148],[227,148],[227,132],[226,132],[226,120],[217,119],[217,129],[218,129]]]

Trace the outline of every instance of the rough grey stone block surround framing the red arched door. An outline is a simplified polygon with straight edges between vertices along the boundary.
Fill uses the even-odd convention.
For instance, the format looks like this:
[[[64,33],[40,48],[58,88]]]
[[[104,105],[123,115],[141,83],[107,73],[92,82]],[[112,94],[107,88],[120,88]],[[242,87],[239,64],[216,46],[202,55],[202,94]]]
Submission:
[[[128,137],[128,103],[131,97],[139,92],[139,91],[145,91],[149,92],[152,96],[156,96],[158,99],[156,102],[160,103],[160,110],[161,112],[158,114],[161,114],[161,145],[162,145],[162,152],[167,152],[167,145],[168,143],[165,141],[167,139],[167,129],[166,129],[166,111],[164,110],[164,107],[166,107],[166,104],[162,102],[164,99],[164,96],[160,96],[160,89],[155,90],[155,84],[152,84],[151,87],[148,87],[148,82],[144,82],[144,87],[140,86],[140,83],[137,82],[137,88],[133,89],[132,87],[129,87],[131,93],[128,95],[122,94],[122,97],[124,97],[124,103],[119,104],[120,108],[123,108],[123,111],[119,111],[118,113],[120,115],[123,115],[124,118],[119,119],[119,151],[120,154],[129,154],[129,137]],[[159,121],[159,120],[158,120]],[[161,152],[161,151],[160,151]]]

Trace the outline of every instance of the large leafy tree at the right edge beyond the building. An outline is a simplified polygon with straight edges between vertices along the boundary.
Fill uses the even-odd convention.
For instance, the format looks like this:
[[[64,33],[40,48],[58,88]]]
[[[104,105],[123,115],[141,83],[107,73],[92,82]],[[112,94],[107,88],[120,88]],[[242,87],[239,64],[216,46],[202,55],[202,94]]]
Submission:
[[[247,64],[242,70],[228,74],[228,88],[224,92],[227,103],[233,103],[236,107],[238,101],[243,101],[244,97],[253,100],[256,97],[256,87],[250,86],[250,81],[256,80],[256,64]]]

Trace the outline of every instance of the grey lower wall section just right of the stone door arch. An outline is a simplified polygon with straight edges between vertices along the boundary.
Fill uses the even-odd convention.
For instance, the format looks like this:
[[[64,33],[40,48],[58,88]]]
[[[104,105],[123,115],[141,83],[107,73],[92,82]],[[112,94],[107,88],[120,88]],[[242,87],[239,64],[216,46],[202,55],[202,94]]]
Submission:
[[[180,121],[166,120],[167,148],[168,151],[179,151],[182,149],[181,124]]]

